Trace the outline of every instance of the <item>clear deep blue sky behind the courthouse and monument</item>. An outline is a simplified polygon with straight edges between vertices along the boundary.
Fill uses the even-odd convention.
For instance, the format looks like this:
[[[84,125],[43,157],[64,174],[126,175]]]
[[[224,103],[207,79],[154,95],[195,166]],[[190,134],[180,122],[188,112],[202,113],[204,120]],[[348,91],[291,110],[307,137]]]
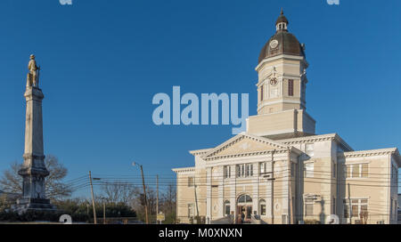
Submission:
[[[398,0],[2,0],[0,171],[22,162],[29,54],[42,67],[45,154],[68,179],[148,179],[193,165],[192,149],[232,137],[232,126],[156,126],[156,93],[250,93],[258,54],[280,9],[307,44],[307,111],[317,133],[354,149],[401,147]]]

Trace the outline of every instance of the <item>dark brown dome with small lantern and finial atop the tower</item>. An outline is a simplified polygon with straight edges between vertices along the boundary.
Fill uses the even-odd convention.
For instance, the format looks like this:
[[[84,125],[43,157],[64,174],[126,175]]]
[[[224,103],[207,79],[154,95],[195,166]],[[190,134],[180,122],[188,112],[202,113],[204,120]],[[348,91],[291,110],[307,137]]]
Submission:
[[[267,41],[260,52],[258,63],[266,58],[274,57],[279,54],[305,56],[304,46],[299,44],[296,36],[288,32],[288,24],[289,21],[282,11],[275,22],[276,32],[274,36]]]

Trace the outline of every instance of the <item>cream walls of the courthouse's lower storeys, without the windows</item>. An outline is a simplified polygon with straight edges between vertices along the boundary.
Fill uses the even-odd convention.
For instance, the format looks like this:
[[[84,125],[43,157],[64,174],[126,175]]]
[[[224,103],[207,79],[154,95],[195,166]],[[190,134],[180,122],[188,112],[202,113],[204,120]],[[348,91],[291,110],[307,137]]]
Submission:
[[[293,146],[303,152],[306,152],[307,137],[302,138],[305,141],[294,143]],[[295,139],[296,140],[296,139]],[[287,142],[289,140],[286,140]],[[271,201],[271,183],[267,181],[266,177],[259,173],[258,164],[260,161],[266,162],[267,172],[271,167],[271,157],[257,156],[249,158],[241,158],[241,161],[224,161],[219,159],[217,161],[208,161],[208,165],[213,167],[211,179],[211,199],[210,211],[211,219],[216,220],[221,218],[224,213],[225,200],[230,201],[231,210],[236,214],[236,199],[242,194],[248,194],[253,202],[253,211],[259,211],[258,201],[260,199],[266,200],[266,216],[261,219],[267,223],[282,223],[282,214],[288,214],[291,198],[295,198],[293,211],[298,216],[295,222],[299,220],[317,220],[325,222],[326,217],[333,214],[332,198],[336,199],[336,214],[340,217],[340,222],[346,223],[347,219],[344,218],[343,199],[348,199],[348,192],[350,198],[367,198],[369,199],[368,211],[370,213],[369,223],[377,223],[384,221],[385,223],[395,223],[397,214],[389,215],[389,201],[390,198],[397,200],[397,179],[390,180],[386,174],[390,173],[390,164],[397,165],[396,158],[390,155],[376,156],[376,157],[345,157],[344,153],[338,153],[337,141],[323,140],[314,142],[313,155],[299,155],[291,153],[291,162],[298,164],[298,172],[295,177],[291,177],[291,166],[288,162],[287,155],[275,154],[274,155],[274,198],[273,198],[273,211],[274,217],[271,216],[272,201]],[[240,150],[239,150],[240,151]],[[346,152],[348,154],[350,152]],[[351,152],[352,153],[352,152]],[[287,156],[288,157],[288,156]],[[199,157],[198,157],[199,158]],[[200,158],[201,159],[201,158]],[[314,176],[313,178],[305,177],[304,168],[308,162],[313,162]],[[250,178],[236,178],[235,177],[235,164],[254,165],[254,176]],[[347,179],[345,177],[344,165],[349,164],[369,164],[369,177],[358,179]],[[201,165],[202,162],[198,161],[197,164]],[[223,180],[223,165],[229,164],[232,167],[232,178]],[[337,164],[337,172],[334,177],[333,169],[334,164]],[[196,173],[196,181],[198,183],[197,197],[198,206],[201,216],[207,216],[207,189],[206,189],[206,168],[197,168],[196,172],[190,173],[177,173],[177,215],[181,218],[181,222],[189,222],[187,219],[187,204],[195,203],[194,188],[185,186],[188,176]],[[383,175],[384,174],[384,175]],[[289,180],[291,181],[289,183]],[[232,186],[232,184],[234,184]],[[350,190],[348,189],[350,185]],[[292,196],[289,196],[289,188],[291,186]],[[305,204],[304,196],[316,195],[317,200],[314,205],[314,216],[305,217]],[[397,213],[394,211],[394,213]],[[394,218],[393,220],[391,218]],[[353,218],[352,222],[356,222]]]

